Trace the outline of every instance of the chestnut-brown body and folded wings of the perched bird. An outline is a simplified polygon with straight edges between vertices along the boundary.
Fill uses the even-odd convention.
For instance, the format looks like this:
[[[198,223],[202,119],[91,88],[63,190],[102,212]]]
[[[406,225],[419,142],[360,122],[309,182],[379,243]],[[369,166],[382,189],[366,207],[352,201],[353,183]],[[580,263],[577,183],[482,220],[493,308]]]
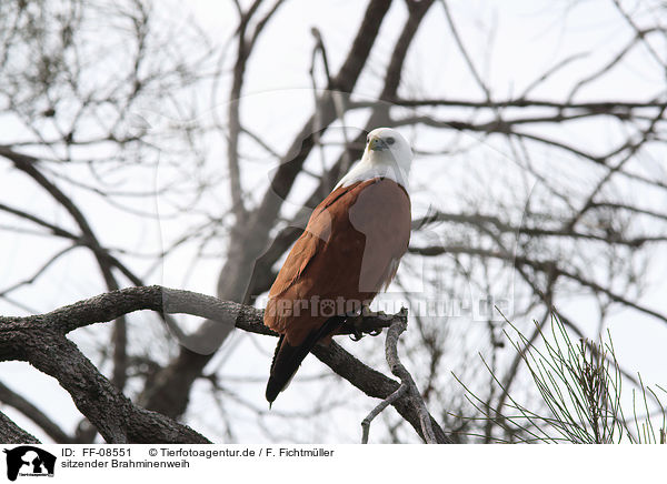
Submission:
[[[265,324],[299,344],[329,316],[359,309],[390,281],[409,238],[409,196],[394,181],[335,190],[315,209],[278,273]],[[339,301],[351,305],[340,311]],[[298,314],[297,302],[307,304]]]

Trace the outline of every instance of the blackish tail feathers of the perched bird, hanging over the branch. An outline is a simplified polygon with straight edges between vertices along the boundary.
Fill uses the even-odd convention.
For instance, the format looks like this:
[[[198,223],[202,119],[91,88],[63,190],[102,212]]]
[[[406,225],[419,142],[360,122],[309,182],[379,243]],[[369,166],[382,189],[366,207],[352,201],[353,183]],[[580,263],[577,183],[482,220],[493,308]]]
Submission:
[[[273,361],[271,362],[271,373],[267,383],[266,396],[269,404],[273,403],[280,392],[288,385],[303,359],[310,353],[310,350],[328,334],[334,333],[345,321],[345,317],[334,316],[321,327],[312,331],[303,342],[298,346],[291,346],[285,335],[280,335]]]

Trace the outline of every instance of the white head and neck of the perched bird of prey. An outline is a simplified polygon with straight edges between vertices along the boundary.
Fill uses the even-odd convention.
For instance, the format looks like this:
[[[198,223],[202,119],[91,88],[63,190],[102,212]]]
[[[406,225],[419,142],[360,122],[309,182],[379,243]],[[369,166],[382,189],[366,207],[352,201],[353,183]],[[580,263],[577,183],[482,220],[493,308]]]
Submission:
[[[407,190],[411,164],[410,143],[391,128],[377,128],[366,138],[366,150],[361,161],[352,167],[337,188],[384,177],[396,181]]]

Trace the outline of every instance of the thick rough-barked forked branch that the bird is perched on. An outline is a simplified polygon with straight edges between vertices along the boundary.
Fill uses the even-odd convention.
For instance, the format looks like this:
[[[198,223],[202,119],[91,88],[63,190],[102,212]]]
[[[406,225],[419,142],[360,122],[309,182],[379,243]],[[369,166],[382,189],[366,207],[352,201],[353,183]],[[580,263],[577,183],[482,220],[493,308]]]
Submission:
[[[263,325],[261,310],[152,285],[112,291],[41,315],[0,317],[0,359],[28,361],[56,377],[108,442],[205,442],[192,430],[133,405],[73,343],[64,339],[67,333],[78,327],[113,321],[140,310],[187,313],[251,333],[276,335]],[[368,316],[364,319],[362,326],[365,331],[374,331],[396,322],[405,325],[407,315]],[[365,365],[336,343],[318,345],[313,354],[369,396],[386,399],[399,386],[398,382]],[[428,440],[422,430],[424,415],[412,400],[414,395],[408,392],[392,405],[422,438]],[[429,420],[437,442],[449,442],[430,415]]]

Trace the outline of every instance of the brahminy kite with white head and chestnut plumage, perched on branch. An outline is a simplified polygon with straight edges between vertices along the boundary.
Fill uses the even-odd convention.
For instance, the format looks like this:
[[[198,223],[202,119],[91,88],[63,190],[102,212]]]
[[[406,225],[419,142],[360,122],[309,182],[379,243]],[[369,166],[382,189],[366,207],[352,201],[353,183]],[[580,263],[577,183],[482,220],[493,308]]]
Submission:
[[[312,212],[269,291],[263,322],[280,334],[266,396],[272,403],[316,343],[386,289],[410,240],[412,150],[378,128],[361,160]]]

